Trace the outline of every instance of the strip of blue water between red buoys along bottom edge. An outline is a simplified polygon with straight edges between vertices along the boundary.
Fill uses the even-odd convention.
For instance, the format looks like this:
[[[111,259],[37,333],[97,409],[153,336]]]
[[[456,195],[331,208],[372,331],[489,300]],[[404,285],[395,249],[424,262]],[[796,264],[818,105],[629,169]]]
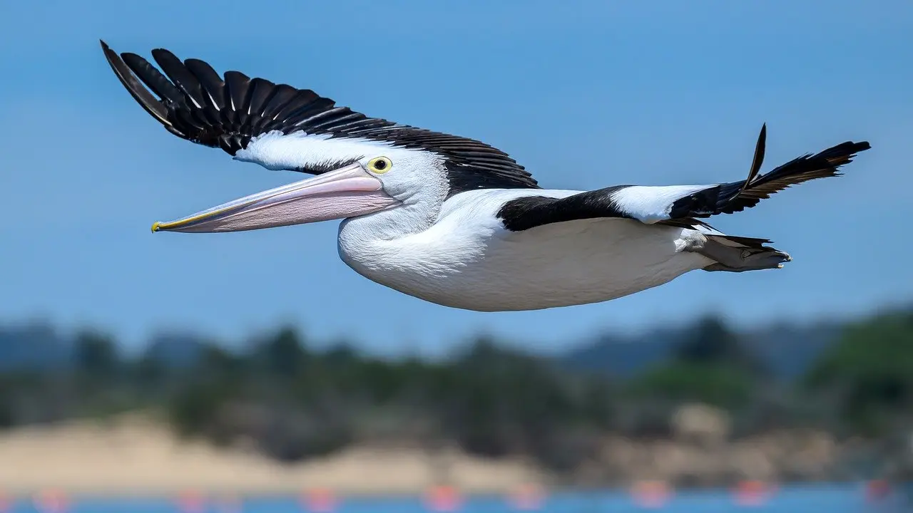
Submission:
[[[761,505],[746,506],[736,503],[728,491],[681,492],[668,497],[666,504],[658,508],[645,508],[635,503],[624,492],[568,493],[557,494],[542,504],[541,513],[734,513],[753,511],[758,513],[909,513],[913,503],[901,504],[901,497],[895,495],[873,502],[866,498],[866,490],[860,485],[783,487]],[[302,513],[294,497],[247,498],[240,509],[219,508],[210,505],[200,513]],[[459,513],[509,513],[517,511],[503,497],[468,498]],[[12,505],[9,513],[45,513],[35,508],[30,501]],[[83,499],[66,509],[67,513],[180,513],[175,501],[162,499]],[[57,512],[55,512],[57,513]],[[402,498],[352,498],[342,499],[334,513],[429,513],[420,497]]]

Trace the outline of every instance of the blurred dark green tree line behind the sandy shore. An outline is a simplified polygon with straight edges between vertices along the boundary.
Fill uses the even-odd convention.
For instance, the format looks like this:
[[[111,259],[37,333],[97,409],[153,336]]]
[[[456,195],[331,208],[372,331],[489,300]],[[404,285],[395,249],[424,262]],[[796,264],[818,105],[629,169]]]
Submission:
[[[721,319],[699,319],[670,358],[621,378],[491,338],[445,361],[389,360],[344,344],[317,351],[282,328],[242,351],[203,343],[181,363],[154,351],[128,358],[85,331],[66,365],[0,366],[0,427],[143,410],[182,436],[253,444],[286,462],[353,443],[456,444],[561,471],[607,433],[668,436],[685,402],[728,410],[736,436],[814,426],[878,437],[913,426],[913,309],[847,323],[791,382],[773,380],[743,342]]]

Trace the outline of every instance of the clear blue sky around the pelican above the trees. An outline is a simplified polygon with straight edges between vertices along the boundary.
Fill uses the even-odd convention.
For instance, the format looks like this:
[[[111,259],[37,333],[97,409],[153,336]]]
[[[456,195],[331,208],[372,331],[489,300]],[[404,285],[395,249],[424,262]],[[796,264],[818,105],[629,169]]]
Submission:
[[[913,4],[880,2],[6,3],[0,16],[0,322],[157,330],[227,343],[280,322],[371,351],[436,353],[478,331],[553,351],[600,330],[718,310],[741,323],[847,316],[913,298]],[[99,38],[166,47],[318,91],[368,115],[488,141],[546,187],[741,179],[845,140],[873,149],[714,224],[792,254],[780,271],[694,272],[611,302],[446,309],[340,261],[338,222],[155,234],[298,180],[173,137],[121,87]],[[352,304],[359,308],[349,308]],[[357,313],[353,313],[357,312]]]

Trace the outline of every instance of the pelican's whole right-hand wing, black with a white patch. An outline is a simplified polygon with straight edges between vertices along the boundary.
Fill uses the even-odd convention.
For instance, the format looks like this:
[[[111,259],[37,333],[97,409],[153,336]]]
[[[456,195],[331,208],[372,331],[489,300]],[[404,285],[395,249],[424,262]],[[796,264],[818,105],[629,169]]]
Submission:
[[[871,146],[866,141],[843,142],[815,155],[806,154],[760,174],[764,160],[766,125],[755,147],[747,179],[711,185],[616,185],[562,198],[530,195],[505,203],[498,217],[509,230],[590,219],[618,217],[646,224],[688,228],[708,227],[699,218],[741,212],[787,187],[815,178],[838,176],[839,167],[852,162],[855,154]]]

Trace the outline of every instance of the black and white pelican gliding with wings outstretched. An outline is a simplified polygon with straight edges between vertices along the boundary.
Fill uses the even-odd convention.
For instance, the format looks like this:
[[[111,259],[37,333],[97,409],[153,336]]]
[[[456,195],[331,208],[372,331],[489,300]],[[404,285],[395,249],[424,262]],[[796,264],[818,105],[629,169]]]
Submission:
[[[153,232],[234,232],[343,219],[343,262],[363,277],[440,305],[548,309],[620,298],[692,270],[782,267],[767,239],[701,221],[794,183],[839,175],[868,142],[846,141],[761,174],[766,124],[748,178],[705,185],[543,189],[480,141],[371,118],[310,89],[219,76],[158,48],[105,57],[167,131],[234,160],[316,176],[252,194]],[[143,86],[145,84],[145,86]],[[154,93],[154,95],[153,95]]]

